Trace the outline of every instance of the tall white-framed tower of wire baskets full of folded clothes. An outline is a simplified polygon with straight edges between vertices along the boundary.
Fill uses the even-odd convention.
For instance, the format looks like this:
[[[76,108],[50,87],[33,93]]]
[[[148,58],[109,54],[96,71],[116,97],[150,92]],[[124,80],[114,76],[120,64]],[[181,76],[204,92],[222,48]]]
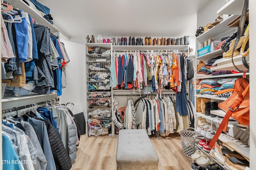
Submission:
[[[90,47],[100,47],[110,50],[110,55],[89,54]],[[112,56],[111,43],[86,43],[86,137],[88,137],[88,119],[100,121],[111,121],[112,118],[112,89],[110,88],[110,62]],[[104,76],[103,76],[104,75]],[[108,75],[108,76],[107,76]],[[90,85],[88,85],[90,84]],[[100,88],[101,86],[101,88]],[[97,88],[98,90],[97,90]],[[96,95],[100,94],[100,95]],[[101,117],[91,114],[93,111],[100,110],[107,113]],[[112,121],[111,121],[112,122]],[[111,135],[114,135],[112,123]]]

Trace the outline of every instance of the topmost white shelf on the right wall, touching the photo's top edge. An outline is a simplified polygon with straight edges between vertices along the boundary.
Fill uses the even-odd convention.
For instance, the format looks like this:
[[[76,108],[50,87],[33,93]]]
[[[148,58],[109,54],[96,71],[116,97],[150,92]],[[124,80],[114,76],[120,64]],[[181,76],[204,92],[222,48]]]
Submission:
[[[243,2],[243,0],[230,0],[217,11],[217,14],[241,15]]]

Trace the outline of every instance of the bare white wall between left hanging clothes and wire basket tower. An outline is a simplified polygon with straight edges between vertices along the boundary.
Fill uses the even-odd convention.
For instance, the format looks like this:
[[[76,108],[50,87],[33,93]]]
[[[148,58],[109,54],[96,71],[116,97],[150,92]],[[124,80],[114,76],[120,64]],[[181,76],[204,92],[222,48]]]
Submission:
[[[70,62],[66,66],[67,87],[62,89],[60,103],[82,104],[83,110],[86,108],[86,84],[85,84],[85,45],[77,43],[76,39],[64,40]]]

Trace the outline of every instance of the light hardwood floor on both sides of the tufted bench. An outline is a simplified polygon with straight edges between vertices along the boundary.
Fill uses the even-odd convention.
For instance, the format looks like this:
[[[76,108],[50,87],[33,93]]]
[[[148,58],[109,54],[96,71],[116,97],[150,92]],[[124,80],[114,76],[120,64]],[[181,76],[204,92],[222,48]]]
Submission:
[[[190,170],[191,160],[182,153],[180,135],[150,137],[159,158],[158,170]],[[118,135],[80,137],[71,170],[116,170]]]

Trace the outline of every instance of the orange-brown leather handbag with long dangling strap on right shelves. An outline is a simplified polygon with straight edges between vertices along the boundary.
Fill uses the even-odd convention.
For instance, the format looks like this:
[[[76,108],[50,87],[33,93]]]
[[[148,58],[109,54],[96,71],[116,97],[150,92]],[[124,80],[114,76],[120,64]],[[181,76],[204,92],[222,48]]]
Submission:
[[[212,138],[209,148],[213,149],[215,143],[222,131],[226,132],[228,126],[228,120],[230,116],[236,119],[238,122],[249,125],[250,124],[250,84],[246,78],[238,78],[234,84],[234,88],[225,89],[214,94],[221,94],[232,91],[232,95],[224,102],[218,104],[220,109],[226,111],[220,126],[218,127],[214,137]]]

